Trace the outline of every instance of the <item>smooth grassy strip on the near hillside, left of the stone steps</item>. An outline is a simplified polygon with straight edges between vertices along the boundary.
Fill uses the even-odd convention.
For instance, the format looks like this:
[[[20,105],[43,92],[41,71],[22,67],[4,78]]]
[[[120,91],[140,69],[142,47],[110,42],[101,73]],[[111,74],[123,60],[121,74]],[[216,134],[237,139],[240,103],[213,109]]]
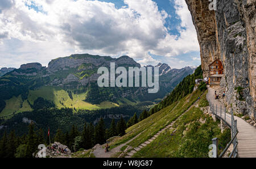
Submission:
[[[154,113],[147,119],[144,119],[141,122],[131,126],[126,130],[125,136],[122,136],[117,141],[112,143],[112,147],[120,145],[121,143],[124,143],[141,133],[140,136],[129,143],[130,146],[137,147],[144,141],[154,136],[154,134],[156,134],[160,129],[163,129],[172,121],[176,120],[177,117],[185,112],[200,95],[201,91],[197,90],[179,100],[179,102],[175,102],[168,107],[161,109],[159,112]]]

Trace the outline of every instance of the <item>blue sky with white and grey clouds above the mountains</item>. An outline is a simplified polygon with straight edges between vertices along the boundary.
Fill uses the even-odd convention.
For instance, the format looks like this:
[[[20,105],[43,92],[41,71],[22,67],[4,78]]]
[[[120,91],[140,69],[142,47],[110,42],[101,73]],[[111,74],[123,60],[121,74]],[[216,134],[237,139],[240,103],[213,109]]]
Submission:
[[[141,65],[200,65],[185,0],[0,1],[0,67],[47,66],[74,53],[128,55]]]

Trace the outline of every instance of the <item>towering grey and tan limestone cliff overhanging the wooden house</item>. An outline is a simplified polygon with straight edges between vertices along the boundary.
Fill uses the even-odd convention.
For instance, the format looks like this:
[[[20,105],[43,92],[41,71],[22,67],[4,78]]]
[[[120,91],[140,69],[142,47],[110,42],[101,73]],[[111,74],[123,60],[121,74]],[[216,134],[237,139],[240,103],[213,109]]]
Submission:
[[[226,104],[256,117],[256,1],[216,0],[215,11],[209,10],[208,0],[185,1],[197,31],[204,77],[209,64],[221,60],[225,76],[220,88],[226,91]]]

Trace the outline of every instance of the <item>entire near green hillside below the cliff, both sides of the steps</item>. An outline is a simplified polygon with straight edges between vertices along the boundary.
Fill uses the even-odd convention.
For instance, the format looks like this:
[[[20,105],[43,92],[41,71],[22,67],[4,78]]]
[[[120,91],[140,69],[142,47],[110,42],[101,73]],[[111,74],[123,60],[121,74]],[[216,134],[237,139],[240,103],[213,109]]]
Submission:
[[[175,120],[173,128],[165,130],[133,157],[208,157],[208,146],[214,137],[220,138],[219,148],[224,149],[230,140],[230,130],[225,129],[221,133],[220,121],[213,121],[210,115],[202,111],[201,108],[209,105],[205,84],[200,84],[198,89],[193,91],[195,78],[200,77],[201,74],[199,67],[195,74],[186,77],[167,98],[152,108],[157,112],[151,109],[150,112],[153,113],[151,116],[126,129],[124,136],[110,143],[111,149],[131,139],[133,140],[127,145],[138,147]],[[189,90],[180,91],[184,88]],[[192,106],[199,96],[201,99],[197,107]],[[180,118],[177,119],[179,116]]]

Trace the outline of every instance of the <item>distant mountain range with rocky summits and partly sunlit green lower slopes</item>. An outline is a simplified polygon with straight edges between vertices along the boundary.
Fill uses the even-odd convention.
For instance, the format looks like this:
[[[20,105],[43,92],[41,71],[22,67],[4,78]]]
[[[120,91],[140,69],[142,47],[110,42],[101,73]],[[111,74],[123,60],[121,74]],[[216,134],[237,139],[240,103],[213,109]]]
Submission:
[[[151,105],[159,102],[195,70],[195,67],[171,69],[167,64],[159,63],[156,66],[159,67],[160,90],[156,94],[148,94],[147,87],[98,87],[100,74],[97,70],[101,66],[110,67],[110,62],[126,68],[141,67],[129,56],[112,58],[72,54],[52,60],[48,67],[29,63],[19,69],[3,69],[10,72],[0,78],[0,117],[32,111],[38,103],[40,108],[53,105],[56,108],[89,110],[125,104]]]

